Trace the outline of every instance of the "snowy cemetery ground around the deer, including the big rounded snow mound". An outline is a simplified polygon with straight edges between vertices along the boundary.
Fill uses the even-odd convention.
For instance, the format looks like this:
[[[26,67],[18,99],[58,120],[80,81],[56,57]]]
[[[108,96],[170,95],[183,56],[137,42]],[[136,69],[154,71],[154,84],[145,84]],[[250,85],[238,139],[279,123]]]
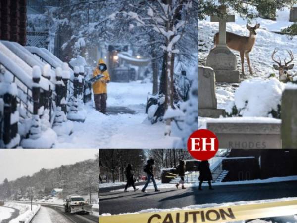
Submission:
[[[295,84],[284,84],[278,80],[279,71],[274,70],[273,64],[275,63],[271,59],[275,48],[278,49],[276,58],[280,57],[282,61],[284,59],[288,61],[290,58],[286,50],[293,52],[294,60],[292,63],[295,63],[295,66],[290,72],[293,75],[297,74],[297,37],[294,36],[291,40],[286,35],[276,33],[292,24],[288,21],[288,18],[289,9],[286,8],[283,11],[277,10],[276,21],[257,19],[260,28],[257,29],[255,45],[249,54],[253,75],[250,75],[247,60],[245,59],[245,76],[241,75],[240,84],[216,82],[215,93],[218,109],[224,109],[227,114],[232,115],[232,109],[236,106],[239,112],[237,116],[276,118],[276,115],[273,116],[271,111],[278,112],[282,92],[290,84]],[[235,23],[227,23],[227,31],[248,36],[249,31],[246,24],[246,19],[235,14]],[[206,20],[199,21],[199,65],[205,65],[206,57],[214,46],[213,36],[216,32],[218,32],[218,23],[210,22],[209,17]],[[239,52],[233,50],[232,52],[237,57],[237,69],[241,72]],[[275,78],[269,78],[271,74],[275,74]],[[198,128],[206,128],[207,120],[209,118],[199,117]],[[212,122],[215,122],[215,120],[212,120]]]

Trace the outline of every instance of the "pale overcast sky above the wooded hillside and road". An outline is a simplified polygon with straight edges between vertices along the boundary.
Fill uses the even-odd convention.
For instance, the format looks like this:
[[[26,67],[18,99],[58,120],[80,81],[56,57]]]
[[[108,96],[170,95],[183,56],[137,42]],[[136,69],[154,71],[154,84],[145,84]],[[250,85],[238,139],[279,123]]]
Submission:
[[[41,168],[55,168],[95,159],[97,149],[0,149],[0,183],[32,175]]]

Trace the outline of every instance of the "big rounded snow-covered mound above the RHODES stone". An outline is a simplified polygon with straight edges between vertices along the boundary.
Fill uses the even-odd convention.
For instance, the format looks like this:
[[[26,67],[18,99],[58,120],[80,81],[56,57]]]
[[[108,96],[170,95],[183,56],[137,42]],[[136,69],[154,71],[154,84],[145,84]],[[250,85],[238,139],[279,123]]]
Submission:
[[[272,110],[278,111],[284,87],[276,78],[245,80],[235,91],[234,102],[226,111],[231,114],[235,105],[241,116],[267,117]]]

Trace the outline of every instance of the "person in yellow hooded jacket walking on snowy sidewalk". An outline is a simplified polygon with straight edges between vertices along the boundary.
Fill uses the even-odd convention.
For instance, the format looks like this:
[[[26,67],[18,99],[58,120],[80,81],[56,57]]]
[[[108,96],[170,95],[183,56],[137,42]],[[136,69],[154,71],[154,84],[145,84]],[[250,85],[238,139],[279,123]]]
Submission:
[[[93,77],[102,74],[104,77],[93,84],[94,102],[97,111],[106,113],[107,100],[107,83],[110,82],[110,77],[107,72],[107,66],[103,59],[99,59],[97,66],[93,72]]]

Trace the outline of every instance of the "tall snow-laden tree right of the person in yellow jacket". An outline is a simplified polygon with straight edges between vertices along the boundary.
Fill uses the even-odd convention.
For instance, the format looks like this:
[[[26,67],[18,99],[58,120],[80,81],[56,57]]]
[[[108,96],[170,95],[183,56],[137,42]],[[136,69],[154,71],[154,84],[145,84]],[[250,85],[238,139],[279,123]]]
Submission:
[[[133,4],[132,4],[133,3]],[[192,0],[141,0],[131,1],[131,3],[118,12],[110,15],[111,20],[129,21],[129,29],[134,32],[142,33],[136,35],[137,44],[146,46],[146,43],[151,44],[151,56],[153,58],[153,66],[155,56],[157,56],[157,48],[163,52],[162,72],[160,79],[159,94],[165,95],[164,110],[168,108],[174,109],[174,68],[175,55],[185,50],[187,47],[178,43],[185,41],[188,23],[191,15],[195,14],[195,2]],[[192,14],[193,13],[193,14]],[[194,16],[195,17],[195,16]],[[195,23],[194,23],[195,25]],[[196,28],[196,27],[192,27]],[[189,31],[189,30],[188,30]],[[146,38],[147,37],[147,38]],[[156,47],[156,48],[155,48]],[[140,47],[141,48],[141,47]],[[189,54],[189,48],[186,49],[185,55]],[[190,53],[191,54],[191,53]],[[153,67],[153,70],[156,69]],[[154,76],[156,76],[154,74]],[[154,87],[153,92],[156,93],[157,87]],[[170,134],[171,119],[166,120],[165,134]]]

